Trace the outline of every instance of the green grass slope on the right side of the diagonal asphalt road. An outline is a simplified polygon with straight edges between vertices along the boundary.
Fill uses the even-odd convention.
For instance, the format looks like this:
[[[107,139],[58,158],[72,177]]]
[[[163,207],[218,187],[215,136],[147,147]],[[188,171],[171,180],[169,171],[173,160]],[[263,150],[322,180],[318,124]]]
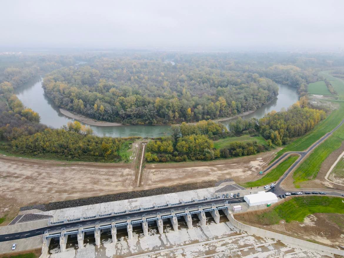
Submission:
[[[320,170],[321,164],[333,151],[341,147],[342,141],[344,141],[344,124],[316,147],[294,171],[295,186],[299,188],[299,183],[314,179]]]

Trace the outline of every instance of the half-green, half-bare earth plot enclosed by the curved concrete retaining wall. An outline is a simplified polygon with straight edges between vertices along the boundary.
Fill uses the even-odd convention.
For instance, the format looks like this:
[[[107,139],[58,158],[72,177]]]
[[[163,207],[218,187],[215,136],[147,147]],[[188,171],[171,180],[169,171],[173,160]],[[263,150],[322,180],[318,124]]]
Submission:
[[[246,224],[292,237],[336,247],[342,245],[342,198],[298,196],[272,209],[234,215]]]

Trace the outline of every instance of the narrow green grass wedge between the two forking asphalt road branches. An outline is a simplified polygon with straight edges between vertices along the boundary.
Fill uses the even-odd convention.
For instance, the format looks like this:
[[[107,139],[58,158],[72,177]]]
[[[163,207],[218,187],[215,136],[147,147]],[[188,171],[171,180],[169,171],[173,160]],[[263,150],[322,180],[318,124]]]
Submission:
[[[243,187],[255,187],[270,184],[271,182],[276,182],[287,169],[299,158],[298,155],[291,155],[287,159],[279,163],[276,168],[272,169],[269,173],[263,176],[261,179],[256,181],[247,182],[241,184]]]

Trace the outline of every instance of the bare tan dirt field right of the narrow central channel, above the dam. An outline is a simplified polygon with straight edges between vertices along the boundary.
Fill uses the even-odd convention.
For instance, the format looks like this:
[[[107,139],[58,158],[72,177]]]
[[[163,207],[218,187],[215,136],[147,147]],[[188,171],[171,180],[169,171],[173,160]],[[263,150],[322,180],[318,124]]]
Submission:
[[[232,178],[237,183],[254,181],[260,178],[258,172],[269,164],[277,151],[208,162],[146,164],[142,175],[142,186],[161,187],[224,178]]]

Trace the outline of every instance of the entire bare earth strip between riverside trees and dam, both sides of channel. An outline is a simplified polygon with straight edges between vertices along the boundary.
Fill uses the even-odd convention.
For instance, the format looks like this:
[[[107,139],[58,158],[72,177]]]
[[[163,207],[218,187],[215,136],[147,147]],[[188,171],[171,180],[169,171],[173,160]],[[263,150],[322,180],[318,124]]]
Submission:
[[[0,156],[0,217],[7,225],[22,206],[73,200],[161,186],[233,178],[258,179],[278,150],[209,162],[146,164],[142,186],[135,187],[132,164],[63,162]],[[137,151],[139,152],[139,151]]]

